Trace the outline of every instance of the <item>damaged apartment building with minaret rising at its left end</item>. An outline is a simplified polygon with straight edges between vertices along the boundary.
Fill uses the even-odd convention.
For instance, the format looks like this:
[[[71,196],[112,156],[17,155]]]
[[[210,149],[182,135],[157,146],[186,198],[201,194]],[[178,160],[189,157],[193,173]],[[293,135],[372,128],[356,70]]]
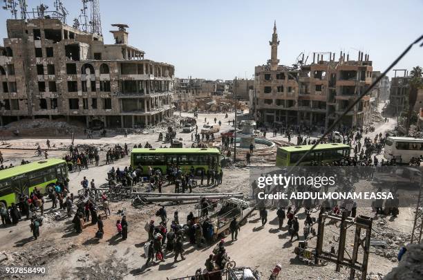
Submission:
[[[342,52],[337,60],[335,53],[313,53],[311,64],[301,59],[294,66],[283,66],[278,45],[275,23],[271,58],[256,66],[250,91],[250,112],[261,122],[328,127],[372,82],[372,62],[364,53],[359,52],[357,60]],[[371,122],[370,101],[365,96],[341,123],[354,127]]]

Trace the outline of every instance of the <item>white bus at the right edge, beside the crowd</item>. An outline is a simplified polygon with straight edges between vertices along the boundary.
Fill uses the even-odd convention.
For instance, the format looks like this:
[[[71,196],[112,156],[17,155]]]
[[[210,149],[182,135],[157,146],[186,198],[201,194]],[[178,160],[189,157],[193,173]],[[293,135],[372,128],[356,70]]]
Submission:
[[[391,137],[385,140],[384,158],[391,160],[394,156],[397,162],[408,163],[411,158],[423,155],[423,138]]]

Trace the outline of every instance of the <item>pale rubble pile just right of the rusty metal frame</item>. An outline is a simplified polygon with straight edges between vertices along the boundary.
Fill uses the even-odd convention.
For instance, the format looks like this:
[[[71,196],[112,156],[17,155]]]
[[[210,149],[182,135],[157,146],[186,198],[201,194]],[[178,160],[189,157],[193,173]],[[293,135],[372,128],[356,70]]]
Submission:
[[[382,218],[373,224],[371,238],[384,241],[382,248],[376,247],[375,254],[395,262],[398,261],[397,255],[400,248],[411,239],[411,236],[410,234],[393,230],[388,226],[386,220]]]

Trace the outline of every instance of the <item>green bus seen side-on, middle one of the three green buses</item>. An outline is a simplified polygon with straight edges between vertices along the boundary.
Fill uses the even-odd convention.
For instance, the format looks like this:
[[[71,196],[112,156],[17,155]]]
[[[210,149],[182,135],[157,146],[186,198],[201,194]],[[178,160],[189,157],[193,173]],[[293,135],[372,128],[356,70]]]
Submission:
[[[141,166],[144,175],[149,173],[149,167],[166,174],[169,165],[178,165],[184,172],[194,167],[196,174],[201,170],[220,172],[220,157],[220,151],[215,148],[141,148],[131,151],[131,166],[134,169]]]

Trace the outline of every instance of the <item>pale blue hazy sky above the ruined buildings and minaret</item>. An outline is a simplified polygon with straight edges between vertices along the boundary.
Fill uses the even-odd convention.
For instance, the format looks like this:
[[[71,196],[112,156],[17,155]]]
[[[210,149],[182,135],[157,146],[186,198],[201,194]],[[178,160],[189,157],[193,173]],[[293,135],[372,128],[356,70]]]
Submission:
[[[62,1],[72,25],[82,1]],[[27,3],[32,10],[41,1]],[[52,0],[43,3],[53,8]],[[370,54],[373,71],[384,71],[423,34],[423,0],[100,0],[100,11],[106,44],[113,44],[111,24],[128,24],[129,44],[146,59],[173,64],[176,77],[209,80],[252,78],[254,66],[270,59],[275,20],[285,65],[300,53],[310,62],[313,52],[339,57],[343,50],[357,59],[361,50]],[[9,17],[0,10],[1,38]],[[423,66],[423,48],[415,46],[395,68],[417,65]]]

